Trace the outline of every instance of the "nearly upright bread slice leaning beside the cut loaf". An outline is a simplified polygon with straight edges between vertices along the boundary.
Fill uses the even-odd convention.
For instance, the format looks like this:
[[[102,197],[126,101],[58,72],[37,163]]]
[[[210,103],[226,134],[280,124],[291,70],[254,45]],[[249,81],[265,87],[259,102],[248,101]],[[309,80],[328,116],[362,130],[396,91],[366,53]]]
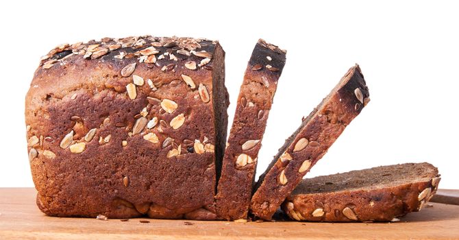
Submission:
[[[224,219],[247,218],[258,151],[285,60],[286,51],[260,39],[247,64],[216,195]]]

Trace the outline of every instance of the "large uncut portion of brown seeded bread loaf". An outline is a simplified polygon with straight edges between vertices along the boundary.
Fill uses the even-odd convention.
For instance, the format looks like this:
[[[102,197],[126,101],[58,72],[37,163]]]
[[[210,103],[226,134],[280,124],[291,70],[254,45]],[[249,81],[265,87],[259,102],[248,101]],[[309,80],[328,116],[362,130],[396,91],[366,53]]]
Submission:
[[[40,210],[215,219],[229,104],[224,57],[216,41],[177,37],[51,50],[25,100]]]

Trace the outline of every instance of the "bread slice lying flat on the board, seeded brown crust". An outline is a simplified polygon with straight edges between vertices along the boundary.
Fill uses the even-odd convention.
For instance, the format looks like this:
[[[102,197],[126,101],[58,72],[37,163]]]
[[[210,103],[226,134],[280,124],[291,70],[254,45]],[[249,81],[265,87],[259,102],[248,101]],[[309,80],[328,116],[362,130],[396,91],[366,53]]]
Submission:
[[[320,176],[302,180],[282,210],[298,221],[392,221],[420,211],[439,181],[429,163]]]

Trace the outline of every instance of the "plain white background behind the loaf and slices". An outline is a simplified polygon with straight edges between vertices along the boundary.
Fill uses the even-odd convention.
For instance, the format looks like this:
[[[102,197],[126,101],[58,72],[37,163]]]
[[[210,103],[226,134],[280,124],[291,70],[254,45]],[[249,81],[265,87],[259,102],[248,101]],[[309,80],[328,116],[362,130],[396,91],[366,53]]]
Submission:
[[[151,34],[218,39],[230,122],[258,38],[287,49],[259,155],[264,171],[301,117],[360,64],[367,105],[308,177],[428,161],[459,189],[459,8],[432,1],[1,1],[0,187],[32,187],[24,98],[60,43]]]

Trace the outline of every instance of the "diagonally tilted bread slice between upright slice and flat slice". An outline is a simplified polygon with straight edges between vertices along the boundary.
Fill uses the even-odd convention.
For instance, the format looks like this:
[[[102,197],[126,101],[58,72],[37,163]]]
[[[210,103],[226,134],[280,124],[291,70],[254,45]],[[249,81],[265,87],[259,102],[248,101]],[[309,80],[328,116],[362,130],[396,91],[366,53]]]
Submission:
[[[260,176],[251,199],[252,213],[261,219],[271,219],[310,167],[322,158],[368,102],[367,84],[356,64],[321,104],[303,119]]]

